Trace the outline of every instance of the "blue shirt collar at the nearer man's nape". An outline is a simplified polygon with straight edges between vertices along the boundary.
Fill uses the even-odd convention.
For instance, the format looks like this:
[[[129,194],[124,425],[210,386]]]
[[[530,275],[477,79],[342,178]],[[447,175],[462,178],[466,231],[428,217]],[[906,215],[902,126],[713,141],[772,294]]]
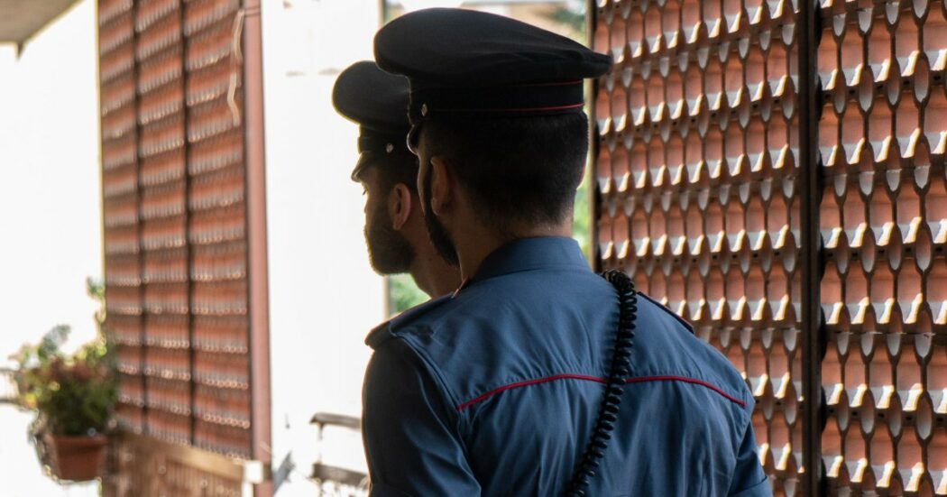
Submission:
[[[499,275],[552,267],[589,269],[579,242],[565,237],[512,240],[483,259],[472,283]]]

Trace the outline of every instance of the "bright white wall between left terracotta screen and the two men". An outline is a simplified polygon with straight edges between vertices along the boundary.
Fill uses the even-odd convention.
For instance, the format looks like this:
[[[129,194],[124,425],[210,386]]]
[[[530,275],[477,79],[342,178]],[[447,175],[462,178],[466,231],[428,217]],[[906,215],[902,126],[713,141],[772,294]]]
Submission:
[[[362,188],[349,180],[358,130],[331,106],[339,71],[371,58],[378,0],[264,2],[267,208],[274,464],[302,474],[314,456],[317,411],[359,415],[370,328],[384,319],[383,279],[362,235]],[[364,469],[357,437],[331,463]],[[312,484],[278,495],[311,495]]]

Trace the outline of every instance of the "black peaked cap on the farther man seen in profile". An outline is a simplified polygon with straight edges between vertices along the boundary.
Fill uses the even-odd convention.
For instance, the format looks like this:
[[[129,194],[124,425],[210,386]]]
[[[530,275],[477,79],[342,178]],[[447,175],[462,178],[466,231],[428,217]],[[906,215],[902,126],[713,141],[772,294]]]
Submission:
[[[332,88],[332,105],[358,124],[360,132],[361,156],[352,179],[377,157],[408,153],[408,96],[408,80],[384,72],[375,62],[355,62],[339,74]]]

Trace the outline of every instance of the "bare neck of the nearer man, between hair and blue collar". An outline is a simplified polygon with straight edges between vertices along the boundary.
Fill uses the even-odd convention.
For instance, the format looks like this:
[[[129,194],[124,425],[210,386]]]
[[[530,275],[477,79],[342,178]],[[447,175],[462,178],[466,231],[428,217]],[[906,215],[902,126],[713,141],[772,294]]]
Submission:
[[[463,281],[474,277],[483,259],[510,241],[539,237],[571,237],[572,217],[557,224],[515,226],[503,233],[475,222],[470,229],[454,230],[460,277]]]

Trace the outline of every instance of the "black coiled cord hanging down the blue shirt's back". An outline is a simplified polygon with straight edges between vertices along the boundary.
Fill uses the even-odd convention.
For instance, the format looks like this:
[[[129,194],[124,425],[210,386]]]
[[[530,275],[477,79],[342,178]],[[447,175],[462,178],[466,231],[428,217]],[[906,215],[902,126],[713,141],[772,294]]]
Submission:
[[[599,408],[599,418],[596,420],[592,439],[589,440],[588,447],[582,454],[579,467],[565,488],[567,497],[585,495],[589,478],[595,476],[596,469],[599,468],[599,459],[605,454],[608,441],[612,438],[612,430],[615,429],[618,409],[621,406],[621,394],[624,392],[625,381],[631,372],[634,320],[637,318],[638,311],[638,297],[634,292],[634,283],[632,278],[618,270],[606,271],[602,276],[618,292],[618,333],[608,382],[605,385],[605,397],[601,400]]]

